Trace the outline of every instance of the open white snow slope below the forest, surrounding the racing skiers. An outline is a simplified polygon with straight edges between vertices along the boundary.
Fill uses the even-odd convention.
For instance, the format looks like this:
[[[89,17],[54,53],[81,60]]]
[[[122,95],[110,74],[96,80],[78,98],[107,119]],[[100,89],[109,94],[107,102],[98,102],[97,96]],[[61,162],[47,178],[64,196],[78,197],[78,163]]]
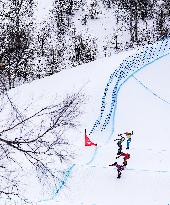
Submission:
[[[40,199],[36,196],[38,185],[32,182],[34,189],[30,188],[29,194],[33,195],[35,205],[170,203],[169,53],[170,40],[158,42],[138,51],[115,54],[65,70],[11,91],[11,95],[19,94],[22,99],[18,102],[20,107],[31,102],[35,111],[56,99],[60,101],[67,93],[81,90],[87,96],[81,126],[69,133],[77,156],[50,195]],[[126,75],[120,79],[121,71]],[[103,98],[110,76],[114,78]],[[105,104],[101,115],[102,101]],[[111,118],[105,123],[107,113],[111,113]],[[96,119],[100,124],[94,126]],[[84,146],[85,128],[90,139],[98,144],[97,148]],[[108,166],[115,161],[117,153],[113,140],[117,134],[132,130],[131,159],[122,178],[117,179],[116,169]]]

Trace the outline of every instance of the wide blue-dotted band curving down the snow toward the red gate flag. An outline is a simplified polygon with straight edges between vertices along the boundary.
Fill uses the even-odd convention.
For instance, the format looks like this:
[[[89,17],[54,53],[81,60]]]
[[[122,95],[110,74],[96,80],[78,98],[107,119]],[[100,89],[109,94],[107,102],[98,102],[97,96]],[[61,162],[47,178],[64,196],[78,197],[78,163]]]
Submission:
[[[106,87],[104,89],[104,95],[102,97],[100,115],[95,121],[89,135],[91,135],[96,130],[98,125],[101,125],[100,131],[103,131],[108,125],[108,123],[110,122],[110,118],[112,116],[112,112],[114,110],[114,106],[117,100],[118,85],[122,84],[121,81],[126,82],[126,78],[132,76],[132,74],[140,70],[141,67],[143,68],[145,65],[148,65],[149,63],[154,62],[160,57],[167,55],[167,53],[169,54],[169,52],[170,52],[170,40],[169,38],[167,38],[163,41],[159,41],[153,44],[152,46],[146,46],[143,48],[143,51],[141,52],[138,51],[135,55],[129,56],[128,58],[123,60],[120,66],[109,77],[109,81],[106,84]],[[107,113],[104,114],[106,110],[106,96],[108,94],[113,79],[117,79],[117,81],[115,87],[113,88],[112,99],[110,100],[110,103],[107,102],[108,106],[110,107],[110,111],[108,114]],[[105,117],[105,119],[103,116]]]

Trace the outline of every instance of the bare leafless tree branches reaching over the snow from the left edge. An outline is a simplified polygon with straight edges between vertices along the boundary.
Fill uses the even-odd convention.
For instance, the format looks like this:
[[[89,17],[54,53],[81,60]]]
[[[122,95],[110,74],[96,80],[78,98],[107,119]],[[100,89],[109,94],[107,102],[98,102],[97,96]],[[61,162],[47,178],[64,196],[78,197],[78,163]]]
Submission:
[[[40,181],[51,180],[54,185],[59,163],[73,157],[64,133],[78,126],[84,95],[69,95],[57,105],[32,113],[29,108],[21,112],[6,91],[0,98],[0,201],[10,204],[21,199],[26,203],[20,191],[28,162]]]

